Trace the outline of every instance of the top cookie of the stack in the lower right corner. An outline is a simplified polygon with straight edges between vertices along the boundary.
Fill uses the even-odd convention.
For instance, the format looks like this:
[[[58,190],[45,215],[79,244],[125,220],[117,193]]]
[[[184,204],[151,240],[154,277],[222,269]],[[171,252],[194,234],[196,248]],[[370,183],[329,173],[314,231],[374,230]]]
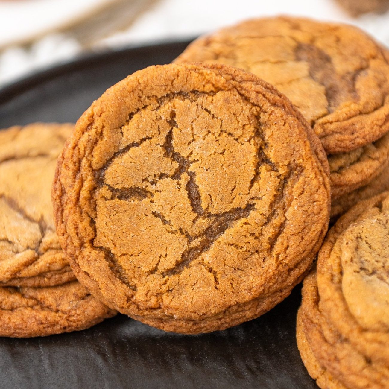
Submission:
[[[389,377],[389,193],[358,203],[329,231],[317,262],[320,309]],[[389,385],[389,380],[388,380]]]

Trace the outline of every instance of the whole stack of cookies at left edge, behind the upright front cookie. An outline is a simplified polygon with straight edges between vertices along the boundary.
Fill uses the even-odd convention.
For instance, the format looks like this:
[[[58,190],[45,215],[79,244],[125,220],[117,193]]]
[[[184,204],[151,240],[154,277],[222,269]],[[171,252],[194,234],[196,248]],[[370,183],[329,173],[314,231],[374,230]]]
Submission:
[[[0,131],[0,336],[74,331],[115,313],[75,280],[54,228],[51,184],[73,127]]]

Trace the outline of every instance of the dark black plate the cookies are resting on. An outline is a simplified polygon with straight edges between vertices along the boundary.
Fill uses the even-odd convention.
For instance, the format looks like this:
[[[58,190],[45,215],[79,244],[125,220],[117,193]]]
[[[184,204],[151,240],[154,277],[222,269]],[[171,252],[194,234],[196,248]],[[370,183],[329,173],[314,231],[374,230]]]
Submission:
[[[0,89],[0,128],[74,122],[105,89],[188,42],[124,49]],[[77,333],[0,338],[1,388],[315,388],[296,345],[300,287],[256,320],[205,335],[165,333],[118,315]]]

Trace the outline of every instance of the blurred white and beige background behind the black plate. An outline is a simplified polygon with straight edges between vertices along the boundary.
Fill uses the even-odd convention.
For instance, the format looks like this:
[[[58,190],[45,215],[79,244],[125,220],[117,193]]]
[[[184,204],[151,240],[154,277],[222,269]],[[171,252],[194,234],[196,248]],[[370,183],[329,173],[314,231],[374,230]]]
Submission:
[[[0,0],[0,86],[90,51],[277,14],[352,23],[389,45],[389,12],[352,18],[335,0]]]

